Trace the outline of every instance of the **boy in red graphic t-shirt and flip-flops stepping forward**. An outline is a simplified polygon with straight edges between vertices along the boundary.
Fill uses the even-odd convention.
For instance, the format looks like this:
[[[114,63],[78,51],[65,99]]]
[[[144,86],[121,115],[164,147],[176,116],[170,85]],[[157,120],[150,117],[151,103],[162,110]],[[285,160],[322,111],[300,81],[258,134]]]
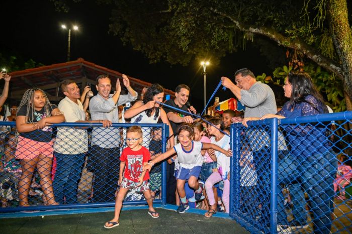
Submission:
[[[132,126],[127,130],[126,143],[127,146],[120,157],[120,190],[117,193],[115,201],[114,218],[105,223],[105,228],[118,226],[122,202],[126,193],[131,188],[136,191],[143,192],[147,200],[149,211],[148,214],[153,218],[158,218],[159,214],[153,208],[153,199],[149,190],[149,172],[143,171],[142,166],[150,160],[150,153],[142,144],[142,129],[139,126]],[[125,170],[125,172],[124,172]]]

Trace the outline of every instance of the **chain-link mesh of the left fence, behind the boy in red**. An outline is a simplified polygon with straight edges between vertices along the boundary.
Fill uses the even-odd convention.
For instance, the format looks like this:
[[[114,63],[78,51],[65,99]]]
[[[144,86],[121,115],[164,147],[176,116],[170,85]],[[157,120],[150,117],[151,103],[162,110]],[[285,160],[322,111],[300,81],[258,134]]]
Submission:
[[[115,201],[120,156],[127,147],[126,130],[132,125],[101,128],[60,124],[41,132],[18,134],[14,123],[13,128],[2,127],[1,123],[5,122],[0,122],[0,128],[4,128],[0,136],[3,208]],[[164,148],[164,128],[161,124],[142,127],[141,145],[151,155]],[[142,164],[126,167],[140,173]],[[155,166],[150,173],[150,188],[157,199],[161,199],[161,178],[161,165]],[[145,201],[143,193],[136,190],[131,189],[125,201]]]

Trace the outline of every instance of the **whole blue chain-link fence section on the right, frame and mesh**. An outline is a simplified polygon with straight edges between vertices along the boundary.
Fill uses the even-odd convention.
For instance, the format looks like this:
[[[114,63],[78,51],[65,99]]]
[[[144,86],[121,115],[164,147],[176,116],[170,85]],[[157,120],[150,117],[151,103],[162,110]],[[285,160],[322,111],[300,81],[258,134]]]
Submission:
[[[345,111],[233,124],[230,216],[251,233],[351,233],[351,120]]]

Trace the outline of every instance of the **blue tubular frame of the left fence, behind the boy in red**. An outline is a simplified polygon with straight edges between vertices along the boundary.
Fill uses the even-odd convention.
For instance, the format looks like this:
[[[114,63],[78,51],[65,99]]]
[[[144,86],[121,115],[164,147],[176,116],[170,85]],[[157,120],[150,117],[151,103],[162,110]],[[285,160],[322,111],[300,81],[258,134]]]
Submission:
[[[15,122],[0,122],[0,126],[16,127]],[[131,126],[140,126],[141,128],[161,128],[161,152],[166,151],[166,143],[168,137],[168,126],[166,124],[112,124],[111,128],[129,128]],[[54,124],[52,127],[79,127],[79,128],[94,128],[102,127],[99,123],[61,123]],[[154,204],[166,205],[166,161],[161,163],[161,199],[155,199]],[[145,205],[147,202],[143,201],[124,201],[124,205]],[[60,204],[60,205],[38,205],[38,206],[26,206],[26,207],[0,207],[0,213],[10,213],[28,210],[60,210],[60,209],[74,209],[74,208],[98,208],[98,207],[114,207],[115,202],[97,202],[97,203],[76,203],[76,204]],[[63,211],[64,212],[64,211]]]

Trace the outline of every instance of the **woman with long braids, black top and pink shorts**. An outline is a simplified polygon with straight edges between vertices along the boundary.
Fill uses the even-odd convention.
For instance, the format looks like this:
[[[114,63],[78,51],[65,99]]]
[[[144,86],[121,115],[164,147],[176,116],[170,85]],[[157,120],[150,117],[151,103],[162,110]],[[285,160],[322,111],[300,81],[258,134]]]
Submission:
[[[44,91],[31,88],[24,93],[16,118],[19,133],[16,158],[20,160],[22,175],[18,184],[20,206],[29,206],[28,192],[34,170],[48,205],[57,205],[50,178],[53,157],[51,124],[65,121],[56,105],[51,104]],[[45,201],[44,201],[45,202]]]

